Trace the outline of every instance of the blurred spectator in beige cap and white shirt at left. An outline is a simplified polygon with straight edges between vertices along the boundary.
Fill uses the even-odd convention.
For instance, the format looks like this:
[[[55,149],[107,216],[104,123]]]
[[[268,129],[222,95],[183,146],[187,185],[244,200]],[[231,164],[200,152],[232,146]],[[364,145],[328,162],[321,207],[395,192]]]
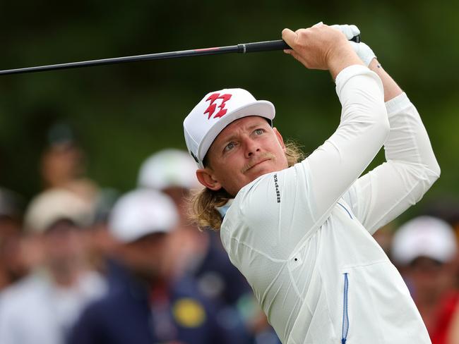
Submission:
[[[102,295],[102,278],[85,264],[90,219],[88,203],[67,190],[32,199],[25,228],[41,254],[30,276],[0,295],[0,343],[64,343],[81,309]]]

